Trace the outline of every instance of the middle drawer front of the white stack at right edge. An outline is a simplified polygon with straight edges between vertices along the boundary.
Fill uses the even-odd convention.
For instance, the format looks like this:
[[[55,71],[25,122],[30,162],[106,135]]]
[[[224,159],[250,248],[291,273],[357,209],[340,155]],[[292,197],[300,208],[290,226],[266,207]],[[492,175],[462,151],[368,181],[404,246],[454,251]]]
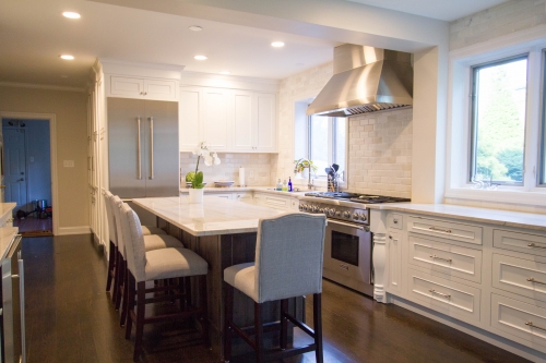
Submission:
[[[546,264],[495,253],[492,287],[546,301]]]

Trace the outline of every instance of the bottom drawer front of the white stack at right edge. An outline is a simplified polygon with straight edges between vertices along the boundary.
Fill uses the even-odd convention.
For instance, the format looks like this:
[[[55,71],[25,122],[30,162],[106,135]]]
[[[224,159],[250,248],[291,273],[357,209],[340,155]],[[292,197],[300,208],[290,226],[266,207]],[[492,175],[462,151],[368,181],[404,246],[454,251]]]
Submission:
[[[492,293],[491,327],[546,347],[546,308]]]

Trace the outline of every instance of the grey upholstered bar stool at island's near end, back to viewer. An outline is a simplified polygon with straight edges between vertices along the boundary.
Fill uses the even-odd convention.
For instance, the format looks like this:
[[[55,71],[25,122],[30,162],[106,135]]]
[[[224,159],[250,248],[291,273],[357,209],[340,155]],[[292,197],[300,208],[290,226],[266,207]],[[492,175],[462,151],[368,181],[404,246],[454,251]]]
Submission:
[[[258,363],[280,360],[309,351],[322,362],[322,253],[325,216],[288,214],[261,219],[258,227],[256,263],[224,270],[224,359],[232,359],[232,336],[239,335],[256,351]],[[254,301],[254,326],[241,328],[234,324],[234,288]],[[288,312],[288,299],[313,294],[313,327],[296,319]],[[265,353],[263,347],[262,304],[281,300],[281,322],[269,324],[281,330],[281,350]],[[313,338],[308,346],[287,349],[288,320]],[[246,332],[249,331],[249,332]],[[253,331],[254,339],[250,337]]]

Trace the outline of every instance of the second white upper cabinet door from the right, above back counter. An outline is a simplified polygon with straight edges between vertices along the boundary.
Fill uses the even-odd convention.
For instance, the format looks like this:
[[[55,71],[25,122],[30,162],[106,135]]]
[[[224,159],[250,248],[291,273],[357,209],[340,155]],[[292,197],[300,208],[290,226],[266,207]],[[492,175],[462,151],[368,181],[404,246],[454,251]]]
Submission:
[[[234,149],[252,150],[252,94],[236,92],[234,94]]]

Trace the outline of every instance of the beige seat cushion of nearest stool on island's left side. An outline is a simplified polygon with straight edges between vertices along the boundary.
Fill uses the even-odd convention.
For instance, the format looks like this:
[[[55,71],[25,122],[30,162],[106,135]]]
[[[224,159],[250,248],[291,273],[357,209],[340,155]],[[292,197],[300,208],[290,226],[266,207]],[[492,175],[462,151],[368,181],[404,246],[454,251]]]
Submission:
[[[146,281],[206,275],[209,264],[187,249],[162,249],[146,252]]]

